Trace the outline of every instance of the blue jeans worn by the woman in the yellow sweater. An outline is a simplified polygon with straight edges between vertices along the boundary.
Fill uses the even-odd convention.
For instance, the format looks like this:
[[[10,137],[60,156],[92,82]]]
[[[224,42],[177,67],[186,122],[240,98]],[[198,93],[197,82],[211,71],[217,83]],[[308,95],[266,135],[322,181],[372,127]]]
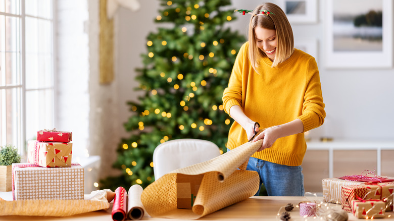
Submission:
[[[305,194],[301,166],[290,167],[250,157],[247,170],[259,173],[260,188],[261,184],[264,184],[268,196],[304,196]],[[259,195],[260,188],[255,196]]]

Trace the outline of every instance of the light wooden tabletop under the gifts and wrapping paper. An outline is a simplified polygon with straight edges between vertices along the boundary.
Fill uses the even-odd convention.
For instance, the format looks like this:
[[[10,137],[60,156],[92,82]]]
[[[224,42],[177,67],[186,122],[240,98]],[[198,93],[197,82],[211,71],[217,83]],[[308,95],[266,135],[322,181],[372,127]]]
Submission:
[[[4,196],[3,194],[0,195]],[[199,220],[280,220],[278,213],[284,212],[284,206],[287,203],[292,203],[294,206],[298,205],[302,201],[321,202],[322,197],[316,196],[305,196],[305,197],[273,197],[273,196],[253,196],[249,199],[243,200],[211,214],[208,214]],[[322,207],[326,208],[339,208],[339,204],[323,203]],[[44,216],[0,216],[0,220],[112,220],[111,218],[111,207],[108,210],[100,210],[94,212],[87,212],[79,215],[73,215],[68,217],[44,217]],[[291,220],[316,220],[316,217],[301,217],[300,210],[294,207],[293,211],[290,211]],[[361,220],[356,218],[352,213],[348,213],[349,220]],[[394,220],[393,212],[386,212],[386,219]],[[168,218],[153,218],[145,215],[142,220],[180,220],[180,219],[168,219]]]

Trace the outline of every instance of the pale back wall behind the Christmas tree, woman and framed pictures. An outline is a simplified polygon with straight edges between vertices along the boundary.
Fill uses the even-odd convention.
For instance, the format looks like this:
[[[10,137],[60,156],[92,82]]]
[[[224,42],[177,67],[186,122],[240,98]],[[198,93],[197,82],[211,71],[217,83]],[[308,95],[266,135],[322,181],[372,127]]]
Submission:
[[[139,3],[141,8],[137,12],[123,8],[117,12],[115,81],[118,84],[119,127],[123,127],[123,123],[131,115],[126,102],[137,100],[138,94],[134,91],[134,87],[138,86],[138,82],[134,79],[137,74],[135,68],[142,67],[140,54],[146,53],[145,38],[149,32],[156,32],[157,29],[153,20],[158,15],[159,1],[139,0]],[[232,3],[234,9],[254,9],[261,1],[232,0]],[[311,131],[311,136],[394,139],[394,87],[392,86],[394,68],[327,69],[324,64],[324,4],[325,1],[318,1],[319,21],[317,24],[292,26],[296,41],[317,40],[318,42],[316,59],[320,70],[327,117],[322,127]],[[240,33],[246,34],[249,18],[236,16],[238,20],[229,25],[239,30]],[[124,129],[121,129],[120,133],[121,136],[128,136]]]

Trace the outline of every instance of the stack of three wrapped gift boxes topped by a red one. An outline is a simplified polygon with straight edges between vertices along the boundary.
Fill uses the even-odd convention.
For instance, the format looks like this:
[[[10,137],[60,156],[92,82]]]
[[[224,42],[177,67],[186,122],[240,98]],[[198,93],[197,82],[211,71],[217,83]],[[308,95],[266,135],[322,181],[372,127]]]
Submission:
[[[37,132],[27,144],[27,163],[12,164],[14,200],[83,199],[84,170],[72,161],[72,133]]]

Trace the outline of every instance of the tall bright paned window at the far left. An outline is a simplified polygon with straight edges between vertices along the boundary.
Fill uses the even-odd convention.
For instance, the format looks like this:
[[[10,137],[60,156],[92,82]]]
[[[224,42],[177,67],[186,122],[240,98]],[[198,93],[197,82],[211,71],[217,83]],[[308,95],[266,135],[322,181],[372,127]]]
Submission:
[[[0,145],[54,125],[53,0],[0,0]]]

